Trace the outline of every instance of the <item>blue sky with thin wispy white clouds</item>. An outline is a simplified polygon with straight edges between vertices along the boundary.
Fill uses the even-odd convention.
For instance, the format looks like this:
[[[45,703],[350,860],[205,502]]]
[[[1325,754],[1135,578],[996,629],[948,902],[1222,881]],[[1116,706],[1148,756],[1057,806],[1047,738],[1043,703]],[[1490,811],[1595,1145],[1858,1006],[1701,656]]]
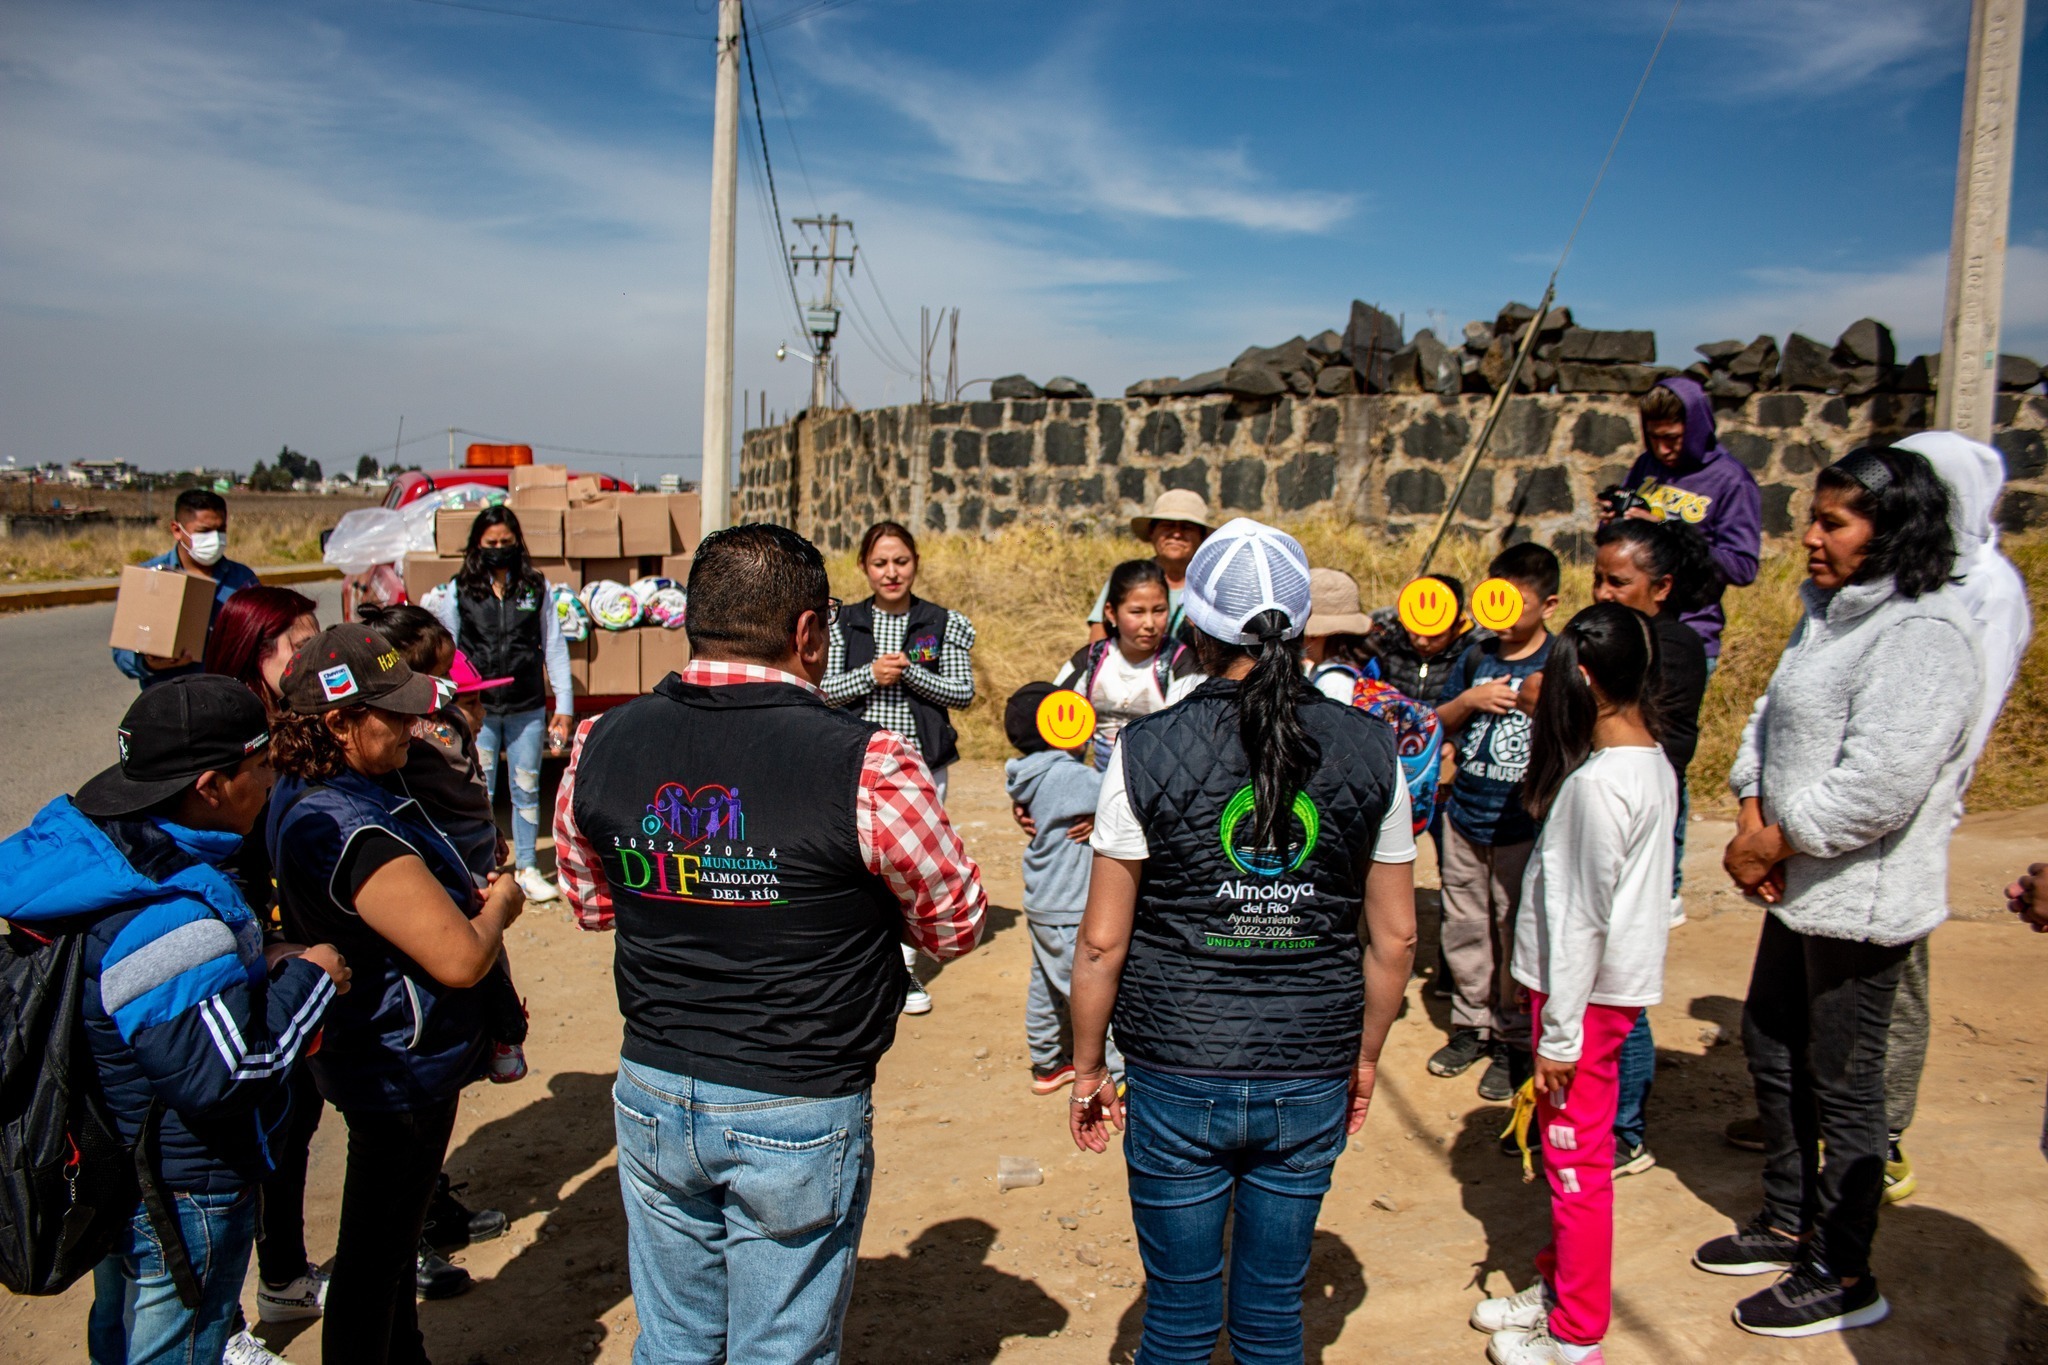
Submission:
[[[477,2],[715,29],[709,0]],[[1120,393],[1341,327],[1354,297],[1450,332],[1534,301],[1667,8],[760,0],[750,18],[784,217],[858,229],[842,383],[877,405],[915,393],[897,370],[920,305],[961,309],[963,379]],[[2048,358],[2034,8],[2005,342]],[[1866,313],[1931,350],[1966,35],[1966,0],[1692,0],[1563,301],[1655,327],[1675,364]],[[403,415],[408,436],[692,452],[627,467],[694,477],[711,76],[702,37],[422,0],[12,0],[0,456],[246,469],[289,442],[352,465]],[[782,340],[750,172],[735,383],[776,411],[809,383]]]

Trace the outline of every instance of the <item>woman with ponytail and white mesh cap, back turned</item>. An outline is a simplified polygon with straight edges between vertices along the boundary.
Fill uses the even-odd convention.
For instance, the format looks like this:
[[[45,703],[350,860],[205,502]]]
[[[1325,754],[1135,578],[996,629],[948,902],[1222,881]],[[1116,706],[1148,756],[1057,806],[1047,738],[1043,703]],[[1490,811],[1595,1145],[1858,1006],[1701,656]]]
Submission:
[[[1393,731],[1303,677],[1309,563],[1292,536],[1229,522],[1190,561],[1182,606],[1208,677],[1124,724],[1102,774],[1069,1132],[1102,1152],[1124,1128],[1114,1013],[1147,1273],[1139,1359],[1210,1357],[1225,1216],[1237,1359],[1300,1359],[1315,1216],[1415,956],[1415,837]]]

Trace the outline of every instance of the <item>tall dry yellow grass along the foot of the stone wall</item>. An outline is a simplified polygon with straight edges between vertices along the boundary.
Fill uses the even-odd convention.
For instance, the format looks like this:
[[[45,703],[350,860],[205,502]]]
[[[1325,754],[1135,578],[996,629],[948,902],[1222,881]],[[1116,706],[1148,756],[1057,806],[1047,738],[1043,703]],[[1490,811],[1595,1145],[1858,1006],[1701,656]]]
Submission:
[[[1286,526],[1309,551],[1309,563],[1348,571],[1358,579],[1366,610],[1395,600],[1415,571],[1421,544],[1389,540],[1362,526],[1335,520],[1307,520]],[[1085,639],[1083,618],[1110,569],[1145,555],[1130,538],[1081,538],[1059,530],[1008,530],[979,536],[930,536],[920,540],[922,596],[965,612],[975,622],[975,704],[954,718],[961,751],[977,759],[1010,757],[1001,731],[1001,704],[1020,686],[1047,679]],[[2007,542],[2013,563],[2028,579],[2036,610],[2048,608],[2048,542]],[[1491,546],[1452,542],[1438,555],[1436,569],[1456,573],[1470,587],[1485,577]],[[1792,626],[1798,622],[1796,587],[1804,577],[1804,553],[1769,553],[1753,587],[1731,591],[1722,667],[1706,690],[1700,712],[1700,753],[1692,765],[1694,808],[1726,812],[1729,763],[1741,739],[1751,702],[1763,694]],[[831,563],[834,591],[848,602],[868,596],[866,579],[852,557]],[[1556,620],[1569,620],[1591,602],[1591,575],[1567,565]],[[1939,698],[1929,698],[1939,704]],[[2034,630],[2034,649],[2021,669],[1991,737],[1976,784],[1972,810],[2011,810],[2048,800],[2048,618]]]

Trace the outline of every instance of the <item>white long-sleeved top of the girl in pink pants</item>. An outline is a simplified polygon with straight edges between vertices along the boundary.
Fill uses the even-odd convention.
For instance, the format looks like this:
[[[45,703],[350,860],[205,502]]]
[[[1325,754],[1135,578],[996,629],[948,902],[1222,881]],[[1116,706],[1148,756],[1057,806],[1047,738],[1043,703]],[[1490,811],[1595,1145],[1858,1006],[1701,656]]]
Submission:
[[[1552,1062],[1579,1060],[1587,1005],[1663,999],[1675,823],[1657,745],[1595,749],[1556,790],[1522,876],[1511,968],[1548,997],[1536,1050]]]

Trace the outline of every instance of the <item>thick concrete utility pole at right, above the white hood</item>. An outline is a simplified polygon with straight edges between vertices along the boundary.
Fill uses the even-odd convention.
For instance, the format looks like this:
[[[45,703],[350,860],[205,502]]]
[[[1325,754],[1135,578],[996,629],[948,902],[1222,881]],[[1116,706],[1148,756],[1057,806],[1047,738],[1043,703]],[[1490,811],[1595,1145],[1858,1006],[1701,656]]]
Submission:
[[[2005,223],[2025,18],[2025,0],[1974,0],[1970,6],[1970,74],[1962,90],[1935,426],[1982,442],[1991,440],[1999,405],[1999,307],[2005,301]]]

